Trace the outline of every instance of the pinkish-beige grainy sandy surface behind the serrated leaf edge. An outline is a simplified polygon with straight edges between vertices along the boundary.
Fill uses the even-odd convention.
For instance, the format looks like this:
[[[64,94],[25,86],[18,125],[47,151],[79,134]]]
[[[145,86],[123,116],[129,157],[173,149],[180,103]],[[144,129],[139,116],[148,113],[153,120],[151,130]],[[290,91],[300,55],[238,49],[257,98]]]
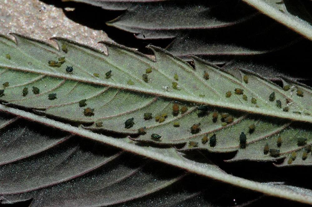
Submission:
[[[101,50],[103,46],[97,42],[110,40],[104,31],[77,24],[61,8],[38,0],[0,0],[0,30],[3,35],[16,32],[54,46],[51,37],[64,37]]]

